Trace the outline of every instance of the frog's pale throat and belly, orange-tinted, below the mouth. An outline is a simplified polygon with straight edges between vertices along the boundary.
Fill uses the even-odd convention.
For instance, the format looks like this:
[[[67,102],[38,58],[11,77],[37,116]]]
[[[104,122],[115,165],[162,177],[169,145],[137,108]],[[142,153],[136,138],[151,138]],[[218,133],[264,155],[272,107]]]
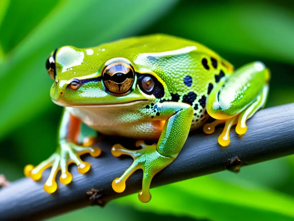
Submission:
[[[158,139],[165,123],[165,121],[146,121],[141,114],[128,115],[117,109],[67,108],[67,110],[87,126],[106,135]]]

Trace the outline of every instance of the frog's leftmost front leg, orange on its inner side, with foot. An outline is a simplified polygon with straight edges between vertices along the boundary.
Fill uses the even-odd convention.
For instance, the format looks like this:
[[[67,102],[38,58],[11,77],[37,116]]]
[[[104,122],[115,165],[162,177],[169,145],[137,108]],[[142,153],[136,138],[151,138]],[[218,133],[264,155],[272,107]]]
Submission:
[[[84,139],[84,146],[76,144],[80,126],[81,121],[71,115],[65,108],[59,127],[56,152],[38,166],[27,165],[24,169],[24,174],[27,177],[39,180],[42,177],[42,172],[46,168],[52,167],[49,177],[44,184],[44,190],[48,193],[53,193],[57,189],[55,177],[59,170],[61,170],[60,182],[62,184],[69,184],[72,180],[72,175],[68,171],[69,164],[75,163],[78,166],[78,172],[84,174],[90,169],[91,165],[88,162],[83,162],[79,156],[90,153],[91,156],[97,157],[101,154],[100,148],[90,147],[93,144],[91,138]]]

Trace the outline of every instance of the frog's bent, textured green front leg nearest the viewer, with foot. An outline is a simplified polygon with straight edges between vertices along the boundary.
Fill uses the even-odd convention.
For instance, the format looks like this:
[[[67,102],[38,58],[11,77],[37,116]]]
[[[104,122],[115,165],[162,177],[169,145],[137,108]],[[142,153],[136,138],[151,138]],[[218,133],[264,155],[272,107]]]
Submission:
[[[128,150],[120,144],[114,145],[111,149],[113,156],[126,154],[134,159],[125,173],[113,180],[112,188],[116,192],[123,192],[126,179],[137,169],[142,169],[142,190],[138,194],[141,202],[148,202],[151,199],[149,188],[153,176],[178,156],[188,136],[193,118],[192,107],[185,103],[164,103],[158,107],[158,112],[160,116],[155,120],[166,120],[166,122],[157,144],[146,145],[139,140],[136,146],[141,146],[140,150]]]

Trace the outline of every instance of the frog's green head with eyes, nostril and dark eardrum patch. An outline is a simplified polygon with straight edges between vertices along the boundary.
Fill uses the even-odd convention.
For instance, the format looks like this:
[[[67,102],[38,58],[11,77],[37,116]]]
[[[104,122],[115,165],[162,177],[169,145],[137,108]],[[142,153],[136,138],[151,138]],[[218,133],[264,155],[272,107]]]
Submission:
[[[151,103],[163,97],[157,75],[139,73],[132,58],[111,56],[106,50],[65,46],[51,53],[46,68],[54,80],[50,91],[54,103],[99,108]]]

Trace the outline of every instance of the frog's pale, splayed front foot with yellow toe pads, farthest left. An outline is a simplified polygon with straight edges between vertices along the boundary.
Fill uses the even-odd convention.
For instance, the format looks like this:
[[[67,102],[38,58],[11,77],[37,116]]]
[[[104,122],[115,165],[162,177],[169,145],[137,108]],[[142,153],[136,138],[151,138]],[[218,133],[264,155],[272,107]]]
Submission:
[[[27,165],[24,168],[24,174],[26,177],[31,177],[33,180],[39,180],[42,177],[42,172],[51,166],[52,169],[44,184],[44,190],[47,193],[53,193],[57,189],[55,177],[59,170],[61,170],[60,182],[62,184],[69,184],[72,180],[72,175],[68,171],[68,165],[71,163],[75,163],[78,166],[78,172],[81,174],[89,171],[91,165],[88,162],[83,162],[80,158],[81,155],[86,153],[90,153],[91,156],[97,157],[101,154],[101,149],[98,147],[78,146],[73,143],[60,144],[60,148],[38,166]]]

